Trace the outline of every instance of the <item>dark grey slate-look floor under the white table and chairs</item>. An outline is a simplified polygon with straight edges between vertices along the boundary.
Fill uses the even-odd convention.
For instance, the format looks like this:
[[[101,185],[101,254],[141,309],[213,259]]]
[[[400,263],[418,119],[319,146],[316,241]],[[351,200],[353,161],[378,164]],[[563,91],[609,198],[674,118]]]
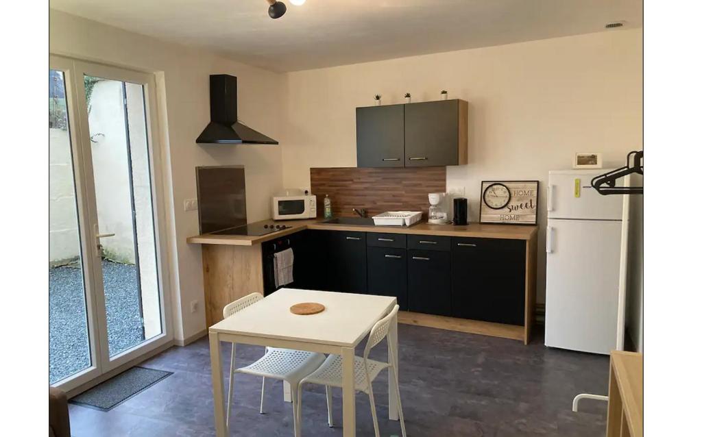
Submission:
[[[573,396],[606,394],[605,356],[529,346],[508,339],[399,325],[400,389],[409,436],[604,436],[606,406]],[[371,356],[385,357],[380,344]],[[228,369],[230,349],[223,347]],[[260,356],[239,346],[237,365]],[[71,429],[82,436],[213,436],[213,401],[207,339],[173,347],[142,364],[170,370],[158,382],[110,412],[70,405]],[[226,384],[225,373],[225,384]],[[260,379],[235,379],[234,436],[292,436],[291,405],[282,384],[267,388],[267,414],[258,414]],[[382,436],[400,435],[388,417],[387,373],[373,383]],[[326,426],[324,389],[303,394],[303,436],[341,436],[340,391],[334,391],[337,426]],[[357,435],[372,436],[369,402],[357,395]]]

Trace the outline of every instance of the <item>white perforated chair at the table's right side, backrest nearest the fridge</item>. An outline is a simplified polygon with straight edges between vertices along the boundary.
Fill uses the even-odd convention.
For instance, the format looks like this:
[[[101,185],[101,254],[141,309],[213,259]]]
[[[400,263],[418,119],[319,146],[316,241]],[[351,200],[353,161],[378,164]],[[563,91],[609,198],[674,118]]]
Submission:
[[[368,354],[376,347],[382,339],[388,336],[388,330],[390,330],[390,323],[397,318],[397,310],[399,310],[399,305],[395,305],[395,308],[390,311],[390,314],[381,318],[368,335],[368,342],[366,342],[366,349],[363,351],[363,358],[355,356],[354,361],[354,374],[355,374],[355,389],[357,391],[363,391],[367,394],[371,400],[371,415],[373,415],[373,427],[376,430],[376,437],[380,437],[380,431],[378,429],[378,416],[376,414],[376,401],[373,398],[373,380],[380,374],[383,369],[390,368],[390,377],[395,379],[395,388],[397,389],[397,410],[399,412],[399,424],[402,427],[402,436],[407,437],[407,433],[404,429],[404,415],[402,414],[402,403],[399,399],[399,382],[397,380],[397,363],[393,362],[392,357],[395,356],[395,347],[388,342],[390,354],[388,356],[388,361],[390,363],[385,363],[383,361],[369,360]],[[327,415],[329,416],[329,426],[333,426],[333,418],[331,416],[331,388],[330,387],[341,387],[343,381],[342,373],[342,358],[338,355],[329,355],[324,363],[319,366],[317,370],[314,370],[310,375],[304,377],[298,386],[298,423],[302,423],[302,389],[303,384],[322,384],[326,386],[326,408]]]

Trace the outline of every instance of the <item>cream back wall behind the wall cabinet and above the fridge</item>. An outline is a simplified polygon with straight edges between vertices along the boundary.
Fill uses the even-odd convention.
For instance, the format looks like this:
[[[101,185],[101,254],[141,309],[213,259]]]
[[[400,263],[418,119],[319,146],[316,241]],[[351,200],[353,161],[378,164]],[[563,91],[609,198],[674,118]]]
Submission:
[[[449,98],[468,100],[468,165],[449,167],[477,221],[481,180],[539,180],[538,301],[545,290],[548,170],[574,152],[603,152],[621,166],[642,147],[642,31],[632,29],[368,62],[287,76],[283,182],[308,187],[310,167],[355,166],[355,108]]]

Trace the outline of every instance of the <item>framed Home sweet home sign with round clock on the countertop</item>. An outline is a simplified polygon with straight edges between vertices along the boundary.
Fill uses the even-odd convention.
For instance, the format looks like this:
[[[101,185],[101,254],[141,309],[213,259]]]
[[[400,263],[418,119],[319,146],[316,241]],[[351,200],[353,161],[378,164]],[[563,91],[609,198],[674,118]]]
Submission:
[[[538,180],[487,180],[480,189],[480,223],[536,224]]]

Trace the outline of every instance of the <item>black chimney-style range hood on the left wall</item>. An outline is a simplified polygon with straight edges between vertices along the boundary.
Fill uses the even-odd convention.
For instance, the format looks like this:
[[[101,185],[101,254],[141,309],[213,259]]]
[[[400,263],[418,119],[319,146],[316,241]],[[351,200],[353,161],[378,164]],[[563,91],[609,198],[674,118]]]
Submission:
[[[200,144],[278,144],[271,137],[244,126],[237,118],[237,77],[210,75],[210,123],[196,142]]]

